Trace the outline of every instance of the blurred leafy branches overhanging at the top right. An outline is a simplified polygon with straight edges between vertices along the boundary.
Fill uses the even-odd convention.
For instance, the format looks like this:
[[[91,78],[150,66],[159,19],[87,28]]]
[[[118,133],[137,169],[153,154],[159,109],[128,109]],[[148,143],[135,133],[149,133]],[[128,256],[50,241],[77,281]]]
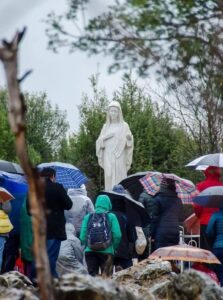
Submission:
[[[80,12],[89,4],[69,0],[66,13],[48,15],[49,48],[111,55],[111,72],[134,68],[145,76],[153,67],[181,82],[211,74],[222,89],[221,1],[117,0],[80,29]]]

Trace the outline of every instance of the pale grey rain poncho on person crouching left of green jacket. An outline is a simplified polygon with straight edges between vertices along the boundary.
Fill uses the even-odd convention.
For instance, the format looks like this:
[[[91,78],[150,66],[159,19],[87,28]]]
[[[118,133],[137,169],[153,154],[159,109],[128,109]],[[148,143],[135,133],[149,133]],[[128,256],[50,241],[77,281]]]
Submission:
[[[57,259],[57,273],[59,276],[67,273],[87,274],[87,269],[83,265],[83,248],[80,240],[75,236],[75,229],[71,223],[66,224],[67,240],[60,246]]]

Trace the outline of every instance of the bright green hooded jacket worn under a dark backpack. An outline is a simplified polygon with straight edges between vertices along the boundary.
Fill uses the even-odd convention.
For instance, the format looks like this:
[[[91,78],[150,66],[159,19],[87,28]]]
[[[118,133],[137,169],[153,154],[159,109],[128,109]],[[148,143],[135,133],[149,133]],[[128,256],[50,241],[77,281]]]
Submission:
[[[111,201],[108,196],[100,195],[97,197],[95,203],[95,212],[96,213],[105,213],[109,212],[112,209]],[[111,233],[112,233],[112,244],[104,249],[93,251],[87,246],[87,225],[89,220],[90,214],[84,217],[82,226],[81,226],[81,233],[80,233],[80,240],[81,243],[86,247],[85,252],[100,252],[105,254],[112,254],[114,255],[115,251],[117,250],[119,243],[121,241],[121,230],[117,220],[117,217],[113,213],[108,213],[108,220],[111,226]]]

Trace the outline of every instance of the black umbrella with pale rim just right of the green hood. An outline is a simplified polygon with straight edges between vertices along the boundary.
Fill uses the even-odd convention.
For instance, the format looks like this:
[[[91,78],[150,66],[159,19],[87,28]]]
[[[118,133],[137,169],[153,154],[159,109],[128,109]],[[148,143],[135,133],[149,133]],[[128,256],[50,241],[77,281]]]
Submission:
[[[149,224],[150,218],[146,213],[144,206],[135,201],[130,195],[119,194],[113,191],[102,191],[99,195],[107,195],[114,207],[120,207],[120,211],[126,213],[130,224],[140,227],[145,227]],[[123,206],[119,205],[122,201],[124,202]]]

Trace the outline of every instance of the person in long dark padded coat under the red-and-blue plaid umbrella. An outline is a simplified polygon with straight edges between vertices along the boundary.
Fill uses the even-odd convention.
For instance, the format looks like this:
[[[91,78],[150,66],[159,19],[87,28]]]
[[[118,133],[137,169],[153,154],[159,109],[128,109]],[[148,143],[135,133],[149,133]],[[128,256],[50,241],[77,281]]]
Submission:
[[[163,179],[160,191],[154,197],[151,237],[154,250],[179,243],[179,225],[183,211],[172,179]]]

